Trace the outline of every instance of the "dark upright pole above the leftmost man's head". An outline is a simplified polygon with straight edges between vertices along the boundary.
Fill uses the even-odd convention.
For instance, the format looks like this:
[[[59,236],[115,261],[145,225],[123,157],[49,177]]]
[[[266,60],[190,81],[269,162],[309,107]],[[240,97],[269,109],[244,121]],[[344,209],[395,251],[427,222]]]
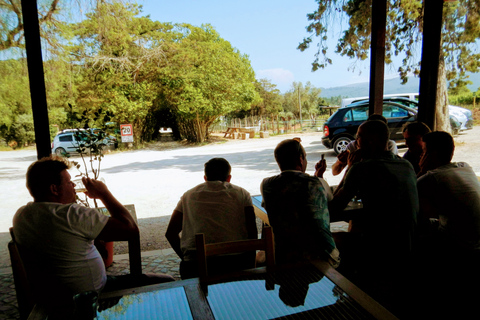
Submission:
[[[22,0],[22,15],[25,48],[27,51],[30,97],[32,99],[35,143],[37,147],[37,158],[41,159],[51,154],[51,147],[37,1]]]

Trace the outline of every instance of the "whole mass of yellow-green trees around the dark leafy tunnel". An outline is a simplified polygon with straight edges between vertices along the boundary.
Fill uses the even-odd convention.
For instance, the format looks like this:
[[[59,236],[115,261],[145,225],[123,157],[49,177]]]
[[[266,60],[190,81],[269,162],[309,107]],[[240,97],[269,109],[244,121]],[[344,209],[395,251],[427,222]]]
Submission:
[[[6,3],[0,6],[0,15],[8,17],[0,23],[1,41],[11,34],[20,41],[0,41],[0,50],[23,49],[23,26],[10,32],[21,15],[15,11],[20,1]],[[160,124],[174,122],[169,126],[176,136],[204,141],[220,116],[252,105],[280,110],[274,88],[265,89],[268,103],[260,106],[248,57],[209,25],[152,21],[139,16],[141,6],[117,0],[99,1],[83,21],[68,24],[59,14],[68,15],[60,9],[69,6],[60,3],[39,1],[49,55],[44,62],[49,117],[59,129],[131,123],[135,141],[142,143]],[[0,61],[0,74],[0,134],[28,143],[30,127],[21,117],[31,112],[26,65],[22,59]],[[165,115],[168,121],[159,118]]]

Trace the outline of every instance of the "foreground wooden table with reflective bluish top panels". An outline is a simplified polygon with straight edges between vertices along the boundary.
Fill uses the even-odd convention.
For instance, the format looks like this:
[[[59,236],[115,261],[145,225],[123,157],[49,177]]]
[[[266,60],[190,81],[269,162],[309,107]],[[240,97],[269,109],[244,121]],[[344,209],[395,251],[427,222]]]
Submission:
[[[214,283],[190,279],[105,293],[101,300],[118,302],[98,319],[396,319],[323,261],[277,268],[273,278],[254,271]]]

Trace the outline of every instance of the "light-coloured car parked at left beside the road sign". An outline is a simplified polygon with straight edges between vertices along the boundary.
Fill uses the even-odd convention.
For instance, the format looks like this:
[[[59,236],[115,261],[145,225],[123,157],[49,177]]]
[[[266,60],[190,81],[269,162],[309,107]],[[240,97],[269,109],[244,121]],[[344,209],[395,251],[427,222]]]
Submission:
[[[71,153],[77,153],[77,149],[81,146],[82,137],[76,132],[84,132],[88,130],[91,134],[98,137],[95,142],[101,150],[105,150],[108,147],[116,148],[118,145],[117,139],[114,136],[107,135],[101,129],[65,129],[57,133],[52,142],[52,153],[63,156]]]

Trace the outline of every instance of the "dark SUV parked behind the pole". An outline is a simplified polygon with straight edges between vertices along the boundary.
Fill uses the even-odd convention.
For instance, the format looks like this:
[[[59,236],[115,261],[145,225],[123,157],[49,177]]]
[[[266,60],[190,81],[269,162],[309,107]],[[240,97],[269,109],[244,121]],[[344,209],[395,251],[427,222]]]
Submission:
[[[345,150],[355,140],[358,127],[368,118],[368,101],[352,103],[332,114],[323,125],[322,144],[336,154]],[[416,121],[417,111],[395,102],[383,102],[383,116],[387,119],[390,139],[403,139],[403,125]]]

